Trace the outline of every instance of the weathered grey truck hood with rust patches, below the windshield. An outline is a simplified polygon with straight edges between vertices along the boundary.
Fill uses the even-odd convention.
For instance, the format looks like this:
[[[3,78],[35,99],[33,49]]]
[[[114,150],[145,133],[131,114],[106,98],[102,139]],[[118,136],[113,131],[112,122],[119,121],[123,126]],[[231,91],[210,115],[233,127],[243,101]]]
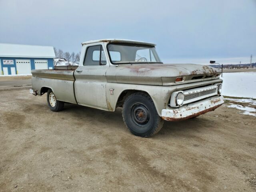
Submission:
[[[194,76],[212,79],[218,72],[216,68],[198,64],[122,64],[111,66],[106,77],[108,82],[167,85],[166,81],[174,82],[178,76],[186,76],[185,81]]]

